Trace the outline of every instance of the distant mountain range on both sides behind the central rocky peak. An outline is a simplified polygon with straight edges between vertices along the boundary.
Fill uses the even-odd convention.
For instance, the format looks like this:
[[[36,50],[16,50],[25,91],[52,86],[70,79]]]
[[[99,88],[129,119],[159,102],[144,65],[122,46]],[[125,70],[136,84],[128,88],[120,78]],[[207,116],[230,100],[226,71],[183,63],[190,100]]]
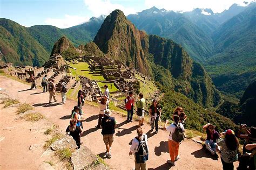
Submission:
[[[219,90],[241,97],[256,76],[255,4],[233,4],[221,13],[211,9],[181,13],[153,7],[127,18],[139,30],[181,44],[192,59],[205,66]],[[0,18],[0,58],[15,65],[42,66],[59,38],[65,36],[75,47],[86,44],[95,39],[104,19],[92,17],[84,24],[59,29],[50,25],[24,27]],[[130,65],[133,58],[129,60]]]

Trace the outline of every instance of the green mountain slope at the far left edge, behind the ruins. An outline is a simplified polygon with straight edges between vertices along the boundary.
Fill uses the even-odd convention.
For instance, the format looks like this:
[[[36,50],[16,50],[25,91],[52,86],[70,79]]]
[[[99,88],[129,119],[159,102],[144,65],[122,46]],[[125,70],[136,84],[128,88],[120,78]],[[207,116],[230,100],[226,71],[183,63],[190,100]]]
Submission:
[[[24,26],[0,18],[0,30],[0,51],[4,62],[41,66],[49,58],[42,45],[33,39]]]

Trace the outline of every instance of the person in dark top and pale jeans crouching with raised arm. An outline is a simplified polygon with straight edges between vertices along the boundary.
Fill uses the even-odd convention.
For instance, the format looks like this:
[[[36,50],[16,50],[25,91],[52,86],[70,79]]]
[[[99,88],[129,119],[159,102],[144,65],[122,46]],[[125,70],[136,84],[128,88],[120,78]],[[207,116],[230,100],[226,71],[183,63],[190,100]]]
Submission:
[[[203,126],[203,129],[206,130],[206,141],[205,146],[208,151],[211,152],[212,155],[219,158],[218,154],[216,153],[217,150],[219,151],[219,147],[217,145],[217,139],[219,139],[219,133],[215,131],[215,126],[211,123],[207,123]]]

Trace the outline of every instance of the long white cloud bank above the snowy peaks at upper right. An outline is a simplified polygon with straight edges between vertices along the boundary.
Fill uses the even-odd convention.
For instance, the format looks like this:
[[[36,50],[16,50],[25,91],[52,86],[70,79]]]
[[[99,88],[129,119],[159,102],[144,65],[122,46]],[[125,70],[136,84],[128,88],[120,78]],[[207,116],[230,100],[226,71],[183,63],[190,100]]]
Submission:
[[[245,0],[145,0],[146,8],[156,6],[159,9],[173,11],[192,11],[195,8],[210,8],[213,12],[222,12],[228,9],[232,4],[244,5]],[[248,0],[252,2],[255,0]]]

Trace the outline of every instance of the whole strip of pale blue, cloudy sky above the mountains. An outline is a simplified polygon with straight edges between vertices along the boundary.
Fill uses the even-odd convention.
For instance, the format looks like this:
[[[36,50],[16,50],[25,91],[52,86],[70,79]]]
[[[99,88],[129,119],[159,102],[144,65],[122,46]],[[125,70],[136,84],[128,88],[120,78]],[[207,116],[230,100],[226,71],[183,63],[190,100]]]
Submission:
[[[222,12],[232,4],[245,0],[0,0],[0,18],[7,18],[30,27],[54,25],[68,28],[87,22],[91,17],[109,15],[115,9],[125,15],[156,6],[158,9],[191,11],[194,8],[211,8]],[[252,2],[255,0],[248,0]]]

